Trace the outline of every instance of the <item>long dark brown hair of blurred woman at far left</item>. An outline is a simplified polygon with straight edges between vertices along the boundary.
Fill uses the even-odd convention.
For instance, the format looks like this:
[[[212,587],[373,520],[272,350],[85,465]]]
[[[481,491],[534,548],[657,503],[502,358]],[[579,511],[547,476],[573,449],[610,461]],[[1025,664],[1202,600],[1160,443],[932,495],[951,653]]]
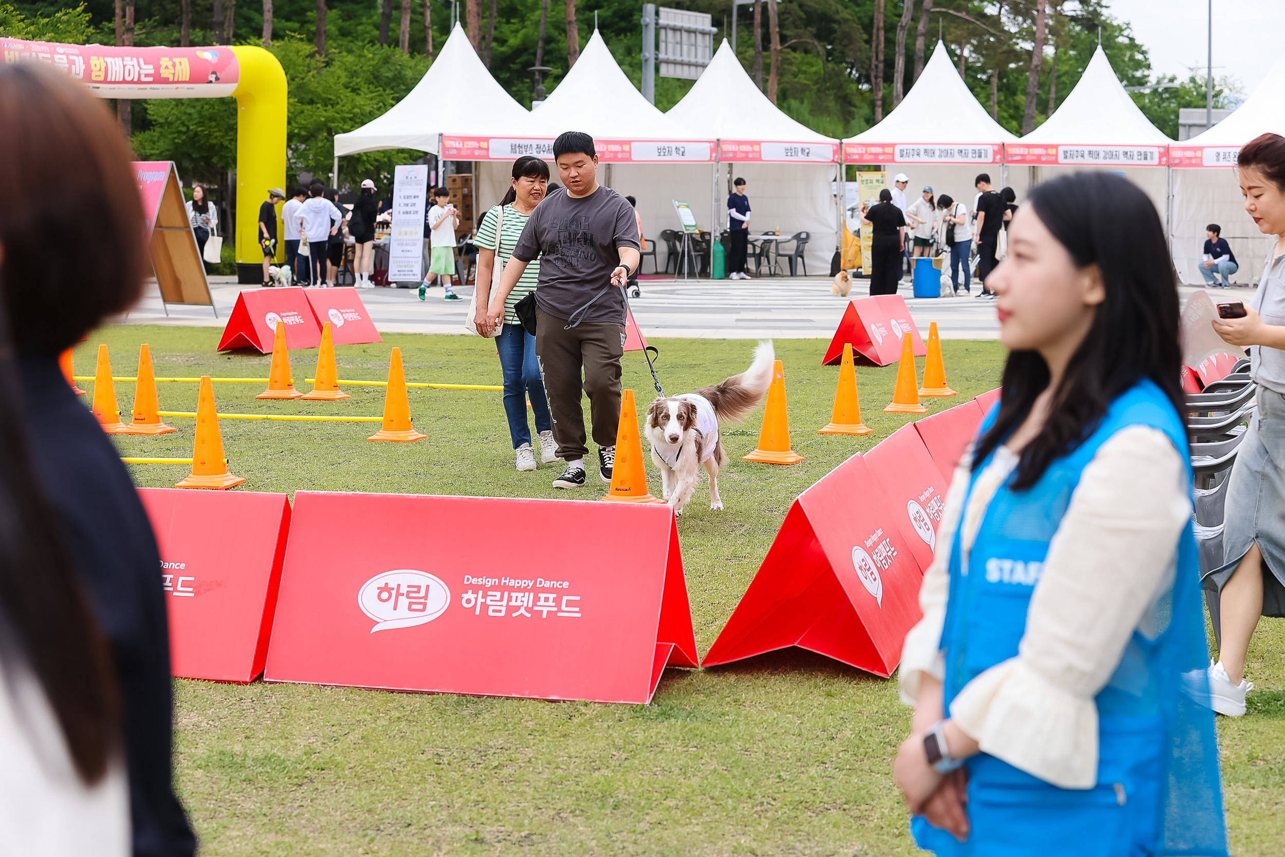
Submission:
[[[130,149],[102,103],[36,63],[0,66],[0,660],[30,668],[76,771],[93,784],[120,748],[111,650],[81,591],[58,519],[31,469],[15,349],[53,358],[134,303],[146,257]],[[60,235],[98,213],[84,239],[102,261],[84,288]],[[76,297],[78,296],[78,297]],[[10,328],[9,319],[15,324]],[[0,689],[3,693],[3,689]]]

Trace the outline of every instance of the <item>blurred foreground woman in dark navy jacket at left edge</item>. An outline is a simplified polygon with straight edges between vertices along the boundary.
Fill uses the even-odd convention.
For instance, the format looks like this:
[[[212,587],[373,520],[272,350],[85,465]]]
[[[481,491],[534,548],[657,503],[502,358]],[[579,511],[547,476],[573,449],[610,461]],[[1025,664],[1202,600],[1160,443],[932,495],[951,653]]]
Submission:
[[[91,230],[81,227],[86,211],[94,212]],[[35,472],[36,487],[23,502],[36,504],[35,492],[44,493],[66,561],[111,645],[134,853],[170,857],[191,854],[195,839],[171,779],[161,558],[116,447],[58,369],[59,352],[137,299],[146,269],[143,230],[128,144],[104,103],[51,68],[0,66],[0,297],[21,398],[5,409],[5,421],[26,432],[23,455]],[[85,288],[89,260],[94,280]],[[48,545],[40,550],[57,561]],[[59,606],[77,615],[71,603]],[[48,675],[40,662],[35,672]],[[44,686],[50,694],[48,680]],[[53,695],[50,702],[63,711]],[[71,744],[81,771],[102,770],[81,767],[81,750]]]

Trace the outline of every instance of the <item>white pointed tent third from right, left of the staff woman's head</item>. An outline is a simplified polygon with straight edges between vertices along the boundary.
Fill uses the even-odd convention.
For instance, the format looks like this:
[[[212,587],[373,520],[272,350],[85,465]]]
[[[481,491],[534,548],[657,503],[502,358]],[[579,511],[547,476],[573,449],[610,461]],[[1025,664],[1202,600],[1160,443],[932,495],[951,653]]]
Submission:
[[[907,173],[906,195],[911,199],[932,185],[935,195],[948,193],[971,207],[977,193],[973,179],[986,172],[998,188],[1004,145],[1016,140],[986,112],[938,41],[901,104],[879,125],[843,141],[843,159],[879,164],[888,172],[889,185],[897,172]],[[1025,172],[1018,171],[1010,180],[1019,197],[1027,185]]]

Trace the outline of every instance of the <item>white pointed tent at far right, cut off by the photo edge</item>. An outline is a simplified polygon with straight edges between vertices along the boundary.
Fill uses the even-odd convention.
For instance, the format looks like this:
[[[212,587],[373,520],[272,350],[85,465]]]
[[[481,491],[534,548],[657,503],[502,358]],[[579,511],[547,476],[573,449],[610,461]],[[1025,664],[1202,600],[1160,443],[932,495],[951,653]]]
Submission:
[[[1263,235],[1245,213],[1236,175],[1240,148],[1261,134],[1285,135],[1285,57],[1226,119],[1204,134],[1169,146],[1173,176],[1173,209],[1169,217],[1169,247],[1183,283],[1203,284],[1200,252],[1204,227],[1222,226],[1222,236],[1236,254],[1237,283],[1258,279],[1263,261],[1276,243]]]

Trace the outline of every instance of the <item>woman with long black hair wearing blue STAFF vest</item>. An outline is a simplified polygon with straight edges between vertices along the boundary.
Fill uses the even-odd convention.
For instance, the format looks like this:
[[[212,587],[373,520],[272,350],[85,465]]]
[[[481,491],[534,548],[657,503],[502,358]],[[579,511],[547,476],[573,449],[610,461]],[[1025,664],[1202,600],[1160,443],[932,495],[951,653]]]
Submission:
[[[1018,209],[1004,397],[955,473],[894,764],[938,854],[1226,854],[1178,303],[1159,217],[1108,173]]]

